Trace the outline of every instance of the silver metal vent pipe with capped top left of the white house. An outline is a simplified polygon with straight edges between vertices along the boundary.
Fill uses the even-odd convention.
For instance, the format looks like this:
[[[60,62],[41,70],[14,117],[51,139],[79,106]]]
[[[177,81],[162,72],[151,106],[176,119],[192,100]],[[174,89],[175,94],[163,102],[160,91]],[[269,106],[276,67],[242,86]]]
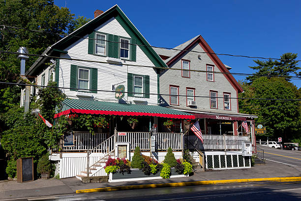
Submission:
[[[26,47],[20,47],[18,50],[18,58],[21,59],[21,65],[20,65],[20,77],[24,80],[28,79],[24,76],[25,75],[25,62],[28,60],[29,56],[23,55],[28,54],[28,50]],[[24,113],[27,113],[29,110],[29,104],[30,104],[30,86],[25,87],[25,101],[24,101]]]

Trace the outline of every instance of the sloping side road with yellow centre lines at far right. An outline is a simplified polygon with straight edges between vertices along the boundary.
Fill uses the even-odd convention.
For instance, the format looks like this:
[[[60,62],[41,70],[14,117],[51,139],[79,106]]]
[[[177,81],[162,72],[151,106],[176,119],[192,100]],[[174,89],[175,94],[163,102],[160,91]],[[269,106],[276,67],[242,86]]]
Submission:
[[[257,146],[264,149],[264,157],[266,160],[301,168],[301,151],[280,150],[266,146]]]

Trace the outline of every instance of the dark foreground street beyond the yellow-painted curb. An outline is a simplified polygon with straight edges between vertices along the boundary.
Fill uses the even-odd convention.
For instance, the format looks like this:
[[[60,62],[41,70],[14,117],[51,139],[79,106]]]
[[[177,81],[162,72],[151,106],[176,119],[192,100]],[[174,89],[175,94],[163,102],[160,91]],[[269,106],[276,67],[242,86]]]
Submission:
[[[256,182],[73,194],[39,201],[279,201],[300,200],[301,182]],[[24,201],[35,199],[24,199]]]

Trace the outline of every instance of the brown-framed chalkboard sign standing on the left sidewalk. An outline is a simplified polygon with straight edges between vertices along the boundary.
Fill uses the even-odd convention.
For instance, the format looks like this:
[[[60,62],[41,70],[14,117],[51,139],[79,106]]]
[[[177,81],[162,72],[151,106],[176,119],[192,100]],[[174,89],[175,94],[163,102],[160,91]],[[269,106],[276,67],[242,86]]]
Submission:
[[[17,160],[17,181],[19,183],[33,181],[33,158],[20,158]]]

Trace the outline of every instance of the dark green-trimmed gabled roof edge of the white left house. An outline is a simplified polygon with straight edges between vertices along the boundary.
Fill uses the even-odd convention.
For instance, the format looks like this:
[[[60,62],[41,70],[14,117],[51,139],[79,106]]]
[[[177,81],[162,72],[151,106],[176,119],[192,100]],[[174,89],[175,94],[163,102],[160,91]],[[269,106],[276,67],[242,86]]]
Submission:
[[[144,36],[137,30],[137,28],[133,25],[133,23],[127,18],[127,16],[123,13],[118,5],[114,5],[98,17],[94,18],[84,26],[70,33],[68,36],[60,39],[58,42],[53,44],[51,47],[48,47],[47,50],[43,53],[43,55],[50,56],[54,51],[63,50],[69,45],[73,44],[79,37],[84,37],[85,35],[91,33],[99,27],[101,24],[105,23],[112,17],[120,23],[122,28],[131,36],[131,38],[137,39],[137,44],[142,45],[139,46],[141,50],[149,57],[151,62],[156,67],[167,67],[166,64],[162,61],[159,55],[151,48],[150,43],[144,38]],[[76,37],[79,36],[79,37]],[[88,52],[88,49],[87,49]],[[31,75],[35,71],[35,67],[41,63],[43,58],[39,58],[37,62],[35,62],[30,69],[25,73],[26,75]]]

